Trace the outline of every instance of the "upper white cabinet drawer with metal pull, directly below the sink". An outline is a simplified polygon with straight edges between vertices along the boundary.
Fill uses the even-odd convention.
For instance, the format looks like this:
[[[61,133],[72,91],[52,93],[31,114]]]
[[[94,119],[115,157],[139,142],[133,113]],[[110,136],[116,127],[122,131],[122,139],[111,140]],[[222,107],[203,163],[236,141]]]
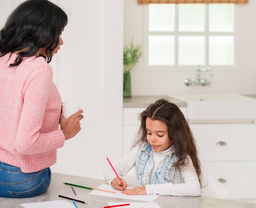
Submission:
[[[190,124],[203,161],[255,160],[255,124]]]

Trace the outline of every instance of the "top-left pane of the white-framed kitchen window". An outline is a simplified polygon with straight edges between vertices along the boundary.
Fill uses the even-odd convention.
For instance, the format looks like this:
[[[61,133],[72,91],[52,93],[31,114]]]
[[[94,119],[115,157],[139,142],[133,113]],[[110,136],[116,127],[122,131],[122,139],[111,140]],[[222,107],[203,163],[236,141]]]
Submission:
[[[174,31],[175,4],[149,4],[148,30]]]

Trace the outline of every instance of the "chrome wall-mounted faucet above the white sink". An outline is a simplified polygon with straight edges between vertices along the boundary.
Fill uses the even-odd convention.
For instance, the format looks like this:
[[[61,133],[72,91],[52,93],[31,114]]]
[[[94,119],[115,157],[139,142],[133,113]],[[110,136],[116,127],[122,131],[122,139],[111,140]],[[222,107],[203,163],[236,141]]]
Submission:
[[[208,67],[207,69],[205,68],[202,68],[198,65],[197,67],[197,72],[196,72],[196,80],[195,81],[192,81],[191,79],[185,79],[184,80],[184,83],[189,86],[189,85],[194,85],[194,84],[200,84],[202,86],[205,86],[205,85],[209,85],[211,84],[211,80],[207,80],[207,79],[201,79],[201,71],[203,72],[209,72],[209,76],[210,76],[210,79],[211,77],[213,77],[213,71],[210,67]]]

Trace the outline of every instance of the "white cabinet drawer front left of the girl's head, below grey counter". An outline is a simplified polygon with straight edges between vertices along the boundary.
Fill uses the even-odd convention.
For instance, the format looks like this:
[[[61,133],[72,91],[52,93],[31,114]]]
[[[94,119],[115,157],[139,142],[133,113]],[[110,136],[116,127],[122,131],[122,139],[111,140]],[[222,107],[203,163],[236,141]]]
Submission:
[[[139,113],[146,108],[124,108],[123,110],[123,125],[140,125],[138,120]]]

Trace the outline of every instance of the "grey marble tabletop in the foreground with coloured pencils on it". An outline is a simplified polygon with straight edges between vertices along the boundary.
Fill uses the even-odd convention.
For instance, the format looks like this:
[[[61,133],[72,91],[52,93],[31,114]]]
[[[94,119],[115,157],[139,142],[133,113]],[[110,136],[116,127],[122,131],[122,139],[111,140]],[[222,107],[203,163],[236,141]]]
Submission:
[[[107,184],[104,180],[92,179],[87,177],[79,177],[74,175],[66,175],[61,173],[52,173],[52,182],[48,190],[36,197],[11,199],[0,197],[0,207],[4,208],[22,208],[20,204],[41,202],[41,201],[55,201],[66,200],[72,204],[72,200],[63,199],[58,195],[64,195],[67,197],[75,198],[72,189],[68,185],[64,185],[63,182],[79,184],[82,186],[90,186],[97,188],[101,184]],[[104,197],[97,195],[89,195],[92,190],[84,188],[76,188],[76,199],[86,201],[88,204],[77,203],[79,208],[100,208],[102,206],[108,206],[108,202],[142,202],[129,199],[119,199],[114,197]],[[255,204],[233,201],[227,199],[218,199],[213,197],[175,197],[175,196],[159,196],[155,201],[161,208],[255,208]]]

